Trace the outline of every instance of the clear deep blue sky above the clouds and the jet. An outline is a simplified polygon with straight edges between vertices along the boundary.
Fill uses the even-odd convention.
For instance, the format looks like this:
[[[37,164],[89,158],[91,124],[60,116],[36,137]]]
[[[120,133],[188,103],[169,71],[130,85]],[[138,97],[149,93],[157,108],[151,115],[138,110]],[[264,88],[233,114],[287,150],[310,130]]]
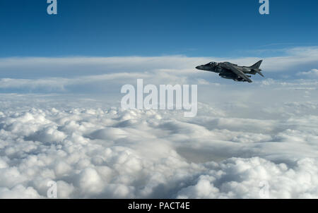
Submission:
[[[0,57],[274,56],[318,46],[318,2],[270,0],[1,0]],[[259,51],[266,49],[266,51]]]

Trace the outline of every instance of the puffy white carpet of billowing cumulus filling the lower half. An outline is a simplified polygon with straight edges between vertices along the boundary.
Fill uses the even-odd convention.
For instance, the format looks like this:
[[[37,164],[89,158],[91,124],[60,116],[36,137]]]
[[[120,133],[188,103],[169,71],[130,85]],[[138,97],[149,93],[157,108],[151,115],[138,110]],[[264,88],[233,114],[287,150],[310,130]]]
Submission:
[[[271,119],[199,103],[184,118],[25,96],[1,96],[0,197],[46,197],[49,181],[58,197],[318,197],[317,103],[281,104]]]

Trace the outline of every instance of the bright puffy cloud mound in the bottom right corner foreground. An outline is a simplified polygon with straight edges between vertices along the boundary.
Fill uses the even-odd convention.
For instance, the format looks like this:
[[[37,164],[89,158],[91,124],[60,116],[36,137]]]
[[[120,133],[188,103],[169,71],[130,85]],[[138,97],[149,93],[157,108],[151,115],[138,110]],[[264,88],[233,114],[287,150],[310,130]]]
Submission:
[[[317,198],[317,161],[302,159],[296,166],[273,164],[258,157],[228,159],[211,164],[192,185],[178,192],[178,198]],[[265,183],[268,197],[262,197],[260,184]],[[267,190],[262,188],[262,190]],[[267,196],[266,195],[266,196]]]

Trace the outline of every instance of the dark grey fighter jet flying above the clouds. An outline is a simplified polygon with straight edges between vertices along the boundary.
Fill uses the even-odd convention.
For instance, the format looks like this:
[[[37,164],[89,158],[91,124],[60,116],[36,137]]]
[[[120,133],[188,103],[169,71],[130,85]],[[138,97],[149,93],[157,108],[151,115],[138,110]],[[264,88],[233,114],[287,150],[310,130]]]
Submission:
[[[252,66],[238,66],[237,64],[230,62],[210,62],[206,63],[206,65],[197,66],[196,68],[201,71],[210,71],[213,73],[219,73],[221,78],[232,79],[235,81],[247,81],[252,83],[250,79],[256,73],[259,73],[262,77],[264,77],[263,73],[261,73],[261,62],[263,60],[255,63]],[[249,75],[246,75],[249,74]]]

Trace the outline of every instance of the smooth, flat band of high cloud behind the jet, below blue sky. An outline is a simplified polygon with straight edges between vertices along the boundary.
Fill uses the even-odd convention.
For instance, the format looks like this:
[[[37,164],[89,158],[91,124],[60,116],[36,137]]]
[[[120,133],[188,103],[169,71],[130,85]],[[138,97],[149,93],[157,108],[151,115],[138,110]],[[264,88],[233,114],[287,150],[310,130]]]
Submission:
[[[281,72],[299,73],[304,66],[317,67],[317,47],[285,49],[284,56],[265,57],[261,68],[264,74]],[[78,92],[110,90],[112,87],[135,82],[143,78],[145,83],[176,84],[196,83],[207,85],[223,83],[216,74],[197,71],[196,66],[208,61],[231,61],[252,65],[259,58],[217,58],[187,56],[126,56],[126,57],[65,57],[65,58],[4,58],[0,59],[0,90],[27,92]],[[310,73],[314,74],[313,69]],[[266,75],[266,76],[267,76]],[[277,77],[278,78],[278,77]],[[256,81],[258,77],[255,77]]]

